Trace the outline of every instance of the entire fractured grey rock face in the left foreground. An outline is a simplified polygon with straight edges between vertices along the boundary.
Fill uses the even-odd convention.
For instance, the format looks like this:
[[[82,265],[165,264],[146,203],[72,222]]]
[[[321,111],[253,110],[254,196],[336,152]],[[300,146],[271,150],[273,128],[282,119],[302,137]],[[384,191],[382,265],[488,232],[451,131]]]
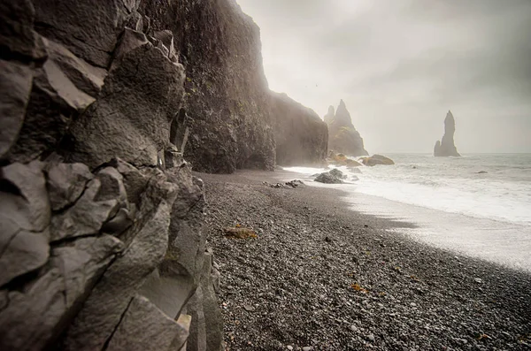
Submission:
[[[0,3],[0,349],[221,350],[173,33],[51,3]]]

